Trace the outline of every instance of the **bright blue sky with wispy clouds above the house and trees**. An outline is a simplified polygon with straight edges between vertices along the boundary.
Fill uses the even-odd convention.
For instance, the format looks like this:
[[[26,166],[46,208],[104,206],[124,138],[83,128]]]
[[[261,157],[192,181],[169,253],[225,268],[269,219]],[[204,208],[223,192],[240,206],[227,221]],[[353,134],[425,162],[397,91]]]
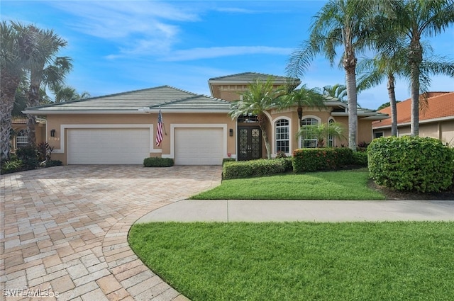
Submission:
[[[326,1],[11,1],[2,20],[53,29],[72,57],[67,84],[92,96],[170,85],[209,95],[208,79],[241,72],[284,75],[292,51],[308,37]],[[454,59],[454,28],[431,38]],[[341,54],[341,52],[339,52]],[[345,83],[337,65],[317,57],[301,78],[308,87]],[[397,99],[409,98],[397,82]],[[453,91],[454,79],[433,77],[431,91]],[[388,101],[382,84],[358,95],[365,108]]]

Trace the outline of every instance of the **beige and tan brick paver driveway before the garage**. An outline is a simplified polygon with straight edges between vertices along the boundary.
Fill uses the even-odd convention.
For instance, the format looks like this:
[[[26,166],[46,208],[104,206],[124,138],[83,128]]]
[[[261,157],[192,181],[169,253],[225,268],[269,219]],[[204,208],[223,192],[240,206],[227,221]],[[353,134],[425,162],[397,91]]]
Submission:
[[[0,300],[187,300],[133,254],[128,230],[151,210],[220,182],[221,166],[2,175]]]

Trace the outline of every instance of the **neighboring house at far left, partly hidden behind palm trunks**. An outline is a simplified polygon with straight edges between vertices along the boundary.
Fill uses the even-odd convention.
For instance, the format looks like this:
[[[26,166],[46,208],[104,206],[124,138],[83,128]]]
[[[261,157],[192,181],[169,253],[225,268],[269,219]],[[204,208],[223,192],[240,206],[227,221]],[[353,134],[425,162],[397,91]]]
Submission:
[[[27,118],[14,117],[11,123],[13,135],[11,135],[11,152],[16,152],[19,147],[26,147],[28,145],[27,135]],[[36,143],[45,141],[45,119],[37,118],[36,120]]]

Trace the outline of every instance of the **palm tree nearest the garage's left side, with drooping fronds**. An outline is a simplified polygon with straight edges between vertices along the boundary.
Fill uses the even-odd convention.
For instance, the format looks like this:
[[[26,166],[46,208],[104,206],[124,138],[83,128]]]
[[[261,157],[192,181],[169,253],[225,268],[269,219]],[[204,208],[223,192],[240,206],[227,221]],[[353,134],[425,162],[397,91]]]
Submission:
[[[61,84],[65,75],[72,69],[69,57],[56,57],[57,52],[67,45],[67,42],[60,38],[53,30],[42,30],[33,25],[28,26],[34,33],[36,44],[39,47],[41,56],[35,59],[30,67],[30,89],[28,91],[28,106],[38,106],[40,103],[40,86]],[[27,115],[28,143],[35,144],[35,115]]]

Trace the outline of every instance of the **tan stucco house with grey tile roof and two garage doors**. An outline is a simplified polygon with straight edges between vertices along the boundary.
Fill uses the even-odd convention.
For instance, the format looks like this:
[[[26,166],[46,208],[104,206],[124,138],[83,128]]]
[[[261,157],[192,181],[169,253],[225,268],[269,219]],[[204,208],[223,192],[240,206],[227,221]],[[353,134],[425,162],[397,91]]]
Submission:
[[[271,76],[276,86],[286,83]],[[212,96],[182,91],[171,86],[130,91],[66,103],[26,108],[25,113],[47,118],[46,135],[52,159],[64,164],[142,164],[145,157],[175,159],[177,165],[220,165],[223,158],[238,160],[266,157],[262,132],[255,116],[232,120],[230,101],[240,98],[255,79],[270,75],[233,74],[209,79]],[[348,108],[335,99],[327,108],[304,108],[304,124],[345,124],[348,136]],[[162,112],[164,137],[155,144],[157,116]],[[272,154],[291,155],[301,145],[295,135],[299,127],[297,108],[267,112],[267,132]],[[388,118],[372,110],[358,109],[358,142],[372,140],[372,120]],[[51,136],[51,132],[54,133]],[[341,147],[347,141],[330,141]]]

